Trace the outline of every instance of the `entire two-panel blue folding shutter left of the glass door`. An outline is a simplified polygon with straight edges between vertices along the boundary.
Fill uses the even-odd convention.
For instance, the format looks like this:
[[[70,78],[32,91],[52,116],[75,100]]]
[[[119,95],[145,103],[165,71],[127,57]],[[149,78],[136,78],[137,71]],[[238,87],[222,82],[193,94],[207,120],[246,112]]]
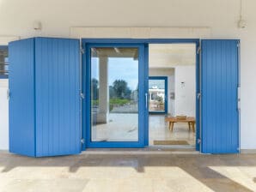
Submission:
[[[80,153],[79,40],[9,44],[9,150],[42,157]]]

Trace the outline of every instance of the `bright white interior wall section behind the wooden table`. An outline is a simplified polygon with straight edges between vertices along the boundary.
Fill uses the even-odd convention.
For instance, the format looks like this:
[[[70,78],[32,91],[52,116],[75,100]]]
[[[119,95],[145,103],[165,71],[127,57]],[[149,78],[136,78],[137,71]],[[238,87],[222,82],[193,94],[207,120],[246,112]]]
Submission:
[[[175,116],[196,115],[195,65],[175,67]]]

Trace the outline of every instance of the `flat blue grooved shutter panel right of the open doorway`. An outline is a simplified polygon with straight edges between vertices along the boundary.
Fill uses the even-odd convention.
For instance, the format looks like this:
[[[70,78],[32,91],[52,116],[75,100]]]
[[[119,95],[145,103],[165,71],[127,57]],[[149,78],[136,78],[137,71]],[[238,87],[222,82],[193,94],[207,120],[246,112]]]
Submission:
[[[239,152],[238,40],[202,40],[202,153]]]

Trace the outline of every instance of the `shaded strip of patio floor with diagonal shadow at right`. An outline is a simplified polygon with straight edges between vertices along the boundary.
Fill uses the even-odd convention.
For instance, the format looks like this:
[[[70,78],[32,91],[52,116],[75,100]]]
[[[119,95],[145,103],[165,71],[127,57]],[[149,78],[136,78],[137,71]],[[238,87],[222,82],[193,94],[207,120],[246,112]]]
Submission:
[[[241,183],[212,170],[210,167],[256,166],[256,154],[202,155],[202,154],[81,154],[51,158],[28,158],[0,153],[1,174],[15,167],[61,166],[76,173],[81,167],[132,167],[143,173],[145,167],[178,167],[214,191],[253,191]],[[255,177],[253,182],[255,182]],[[184,181],[186,182],[186,181]]]

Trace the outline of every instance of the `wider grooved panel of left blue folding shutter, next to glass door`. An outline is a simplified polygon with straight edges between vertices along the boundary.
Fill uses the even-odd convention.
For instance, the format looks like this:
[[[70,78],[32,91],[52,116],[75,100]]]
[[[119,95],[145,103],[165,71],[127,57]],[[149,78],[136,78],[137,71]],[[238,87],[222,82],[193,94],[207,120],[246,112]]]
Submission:
[[[35,39],[36,156],[80,153],[79,41]]]

